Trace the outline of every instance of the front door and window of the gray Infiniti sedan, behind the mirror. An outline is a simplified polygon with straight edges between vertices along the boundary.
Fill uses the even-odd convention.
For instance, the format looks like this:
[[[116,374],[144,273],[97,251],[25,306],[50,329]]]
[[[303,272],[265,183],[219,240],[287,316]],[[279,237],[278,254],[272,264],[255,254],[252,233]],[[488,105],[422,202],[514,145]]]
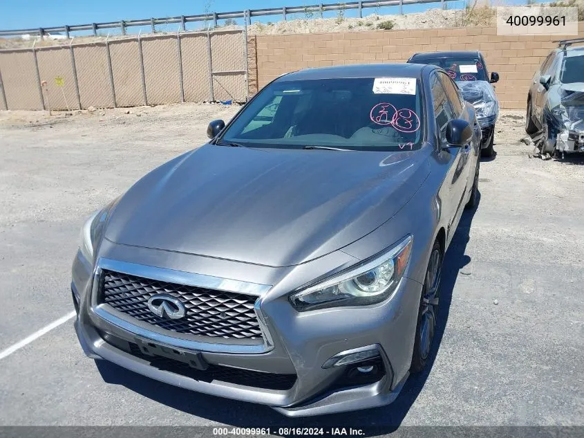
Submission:
[[[446,82],[446,79],[449,82]],[[449,147],[446,141],[446,125],[450,120],[455,118],[460,118],[462,112],[462,102],[460,100],[453,102],[452,98],[449,97],[449,93],[446,92],[444,84],[449,84],[449,90],[454,91],[454,95],[457,95],[456,90],[453,89],[454,84],[448,75],[440,71],[435,71],[431,75],[430,87],[432,93],[432,100],[434,106],[434,116],[436,119],[436,130],[438,133],[437,142],[440,149],[444,149],[442,154],[449,159],[449,170],[446,173],[444,179],[444,185],[447,185],[445,192],[447,193],[447,199],[443,201],[444,215],[448,215],[448,231],[447,237],[450,239],[451,233],[454,232],[458,221],[460,220],[460,215],[462,214],[462,201],[464,201],[464,194],[467,188],[467,176],[468,176],[468,163],[469,163],[469,152],[471,147]],[[446,155],[447,154],[447,155]],[[446,205],[444,205],[446,201]]]

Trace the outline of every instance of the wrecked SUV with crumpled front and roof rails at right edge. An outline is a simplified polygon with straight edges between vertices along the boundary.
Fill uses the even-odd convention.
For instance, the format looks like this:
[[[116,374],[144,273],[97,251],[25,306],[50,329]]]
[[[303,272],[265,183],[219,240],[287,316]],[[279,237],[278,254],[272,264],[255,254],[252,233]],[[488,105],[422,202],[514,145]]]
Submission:
[[[584,38],[559,42],[534,74],[525,131],[541,138],[541,154],[584,152]]]

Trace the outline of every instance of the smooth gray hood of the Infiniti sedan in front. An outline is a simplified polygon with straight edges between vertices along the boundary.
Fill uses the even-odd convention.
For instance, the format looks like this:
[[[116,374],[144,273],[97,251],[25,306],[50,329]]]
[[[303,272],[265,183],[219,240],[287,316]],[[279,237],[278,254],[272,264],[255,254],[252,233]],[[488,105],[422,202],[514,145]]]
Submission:
[[[135,183],[105,237],[266,266],[308,262],[395,215],[428,176],[430,153],[205,145]]]

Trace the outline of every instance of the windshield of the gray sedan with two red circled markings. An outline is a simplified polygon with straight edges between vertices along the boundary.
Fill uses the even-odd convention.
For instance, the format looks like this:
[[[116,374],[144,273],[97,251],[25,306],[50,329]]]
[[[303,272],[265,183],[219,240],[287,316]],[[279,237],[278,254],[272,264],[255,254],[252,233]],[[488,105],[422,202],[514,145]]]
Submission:
[[[218,143],[247,147],[411,151],[422,147],[420,81],[361,77],[276,81]]]

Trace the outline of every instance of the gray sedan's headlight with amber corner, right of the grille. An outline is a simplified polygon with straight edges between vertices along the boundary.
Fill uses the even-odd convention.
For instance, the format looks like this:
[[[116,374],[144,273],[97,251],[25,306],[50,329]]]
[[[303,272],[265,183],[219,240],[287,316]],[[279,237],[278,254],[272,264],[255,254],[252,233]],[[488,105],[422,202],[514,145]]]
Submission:
[[[375,304],[386,300],[402,279],[412,247],[408,236],[382,255],[290,295],[299,311]]]

